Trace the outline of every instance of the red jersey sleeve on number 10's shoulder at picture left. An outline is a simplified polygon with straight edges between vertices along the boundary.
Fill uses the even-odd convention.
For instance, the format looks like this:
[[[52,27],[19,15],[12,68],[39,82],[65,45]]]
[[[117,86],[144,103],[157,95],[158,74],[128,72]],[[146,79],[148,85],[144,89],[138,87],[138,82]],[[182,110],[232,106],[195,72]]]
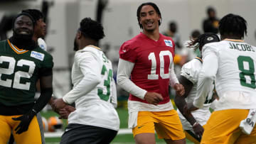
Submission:
[[[137,52],[135,52],[133,46],[129,42],[122,44],[119,50],[119,57],[122,60],[127,60],[129,62],[135,62],[137,57]]]

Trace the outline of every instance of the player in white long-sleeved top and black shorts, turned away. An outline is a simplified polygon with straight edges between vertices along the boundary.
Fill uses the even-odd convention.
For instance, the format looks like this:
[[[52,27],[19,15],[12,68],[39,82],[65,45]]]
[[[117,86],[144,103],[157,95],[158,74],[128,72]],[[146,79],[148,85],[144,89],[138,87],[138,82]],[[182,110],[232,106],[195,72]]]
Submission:
[[[52,104],[58,111],[75,102],[61,144],[110,143],[119,130],[112,62],[95,46],[104,36],[100,23],[82,19],[74,43],[77,51],[71,75],[74,87]]]

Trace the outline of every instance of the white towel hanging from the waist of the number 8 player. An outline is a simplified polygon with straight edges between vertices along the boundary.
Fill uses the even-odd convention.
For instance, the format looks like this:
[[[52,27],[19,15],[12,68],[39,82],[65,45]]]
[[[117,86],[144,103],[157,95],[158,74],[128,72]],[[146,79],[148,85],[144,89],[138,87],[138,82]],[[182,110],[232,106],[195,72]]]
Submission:
[[[240,122],[240,129],[242,133],[250,135],[252,129],[255,127],[256,122],[256,109],[250,109],[247,118]]]

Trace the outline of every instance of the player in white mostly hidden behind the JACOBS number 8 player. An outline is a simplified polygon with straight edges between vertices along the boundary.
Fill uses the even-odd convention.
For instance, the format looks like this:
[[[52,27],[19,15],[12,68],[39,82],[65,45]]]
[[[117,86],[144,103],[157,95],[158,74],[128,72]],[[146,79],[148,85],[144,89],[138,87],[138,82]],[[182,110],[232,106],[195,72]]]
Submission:
[[[196,40],[191,40],[188,43],[189,47],[193,48],[196,45],[200,51],[203,48],[203,45],[207,43],[213,43],[220,41],[218,35],[214,33],[204,33],[199,35]],[[210,104],[213,101],[213,91],[210,91],[208,97],[203,104],[203,108],[193,111],[192,113],[184,113],[183,108],[186,106],[187,102],[193,102],[193,99],[196,97],[196,87],[198,82],[198,74],[203,65],[203,60],[201,57],[196,57],[195,59],[187,62],[181,68],[181,77],[179,82],[185,88],[185,94],[183,96],[175,96],[174,101],[178,108],[178,116],[181,119],[183,129],[186,133],[186,138],[191,140],[193,143],[200,143],[201,136],[203,135],[203,125],[206,124],[208,118],[210,117]],[[214,85],[211,85],[212,89]]]

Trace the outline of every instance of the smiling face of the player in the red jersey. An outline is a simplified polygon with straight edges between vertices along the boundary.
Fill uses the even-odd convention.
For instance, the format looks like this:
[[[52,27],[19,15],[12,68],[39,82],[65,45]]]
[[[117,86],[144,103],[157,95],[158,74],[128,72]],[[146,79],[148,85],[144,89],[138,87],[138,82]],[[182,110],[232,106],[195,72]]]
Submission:
[[[143,31],[158,31],[160,16],[156,13],[153,6],[142,6],[142,10],[139,13],[139,23],[142,24]]]

